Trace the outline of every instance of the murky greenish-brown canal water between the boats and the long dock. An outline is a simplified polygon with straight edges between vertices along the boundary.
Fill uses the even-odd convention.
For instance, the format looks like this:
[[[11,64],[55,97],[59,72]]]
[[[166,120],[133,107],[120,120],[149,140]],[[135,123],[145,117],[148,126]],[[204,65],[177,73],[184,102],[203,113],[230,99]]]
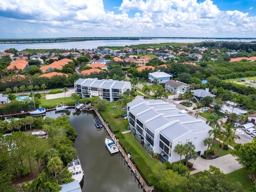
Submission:
[[[130,169],[118,154],[111,156],[105,146],[106,131],[94,124],[94,112],[75,112],[69,109],[70,124],[78,134],[74,147],[84,170],[83,192],[142,192]],[[48,117],[58,117],[54,111]]]

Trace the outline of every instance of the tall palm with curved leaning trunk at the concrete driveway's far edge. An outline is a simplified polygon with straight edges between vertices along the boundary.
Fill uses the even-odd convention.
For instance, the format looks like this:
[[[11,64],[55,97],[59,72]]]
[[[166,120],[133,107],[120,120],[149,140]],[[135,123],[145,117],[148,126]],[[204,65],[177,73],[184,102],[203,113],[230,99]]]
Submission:
[[[235,139],[240,139],[238,135],[234,134],[232,125],[230,123],[226,124],[224,128],[225,130],[220,130],[220,135],[219,135],[219,138],[222,141],[220,151],[216,155],[212,156],[213,158],[215,158],[220,154],[221,150],[224,147],[225,142],[228,142],[230,145],[233,145],[235,142]]]

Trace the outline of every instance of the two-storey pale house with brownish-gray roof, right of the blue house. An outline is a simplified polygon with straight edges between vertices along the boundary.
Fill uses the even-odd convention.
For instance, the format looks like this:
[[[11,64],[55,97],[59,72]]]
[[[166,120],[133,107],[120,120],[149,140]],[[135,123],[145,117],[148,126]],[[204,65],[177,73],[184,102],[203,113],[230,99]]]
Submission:
[[[186,92],[190,86],[186,83],[175,81],[173,79],[165,82],[165,90],[170,90],[171,93],[180,94]]]

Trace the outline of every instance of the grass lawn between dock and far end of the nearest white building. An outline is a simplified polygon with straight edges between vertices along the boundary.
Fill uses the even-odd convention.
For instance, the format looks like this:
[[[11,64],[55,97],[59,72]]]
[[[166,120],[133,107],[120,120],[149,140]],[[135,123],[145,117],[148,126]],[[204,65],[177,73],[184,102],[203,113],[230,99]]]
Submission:
[[[116,108],[113,109],[113,106],[116,106]],[[102,115],[102,118],[108,122],[112,132],[127,131],[127,127],[124,124],[124,118],[122,118],[122,115],[126,114],[126,111],[123,111],[122,109],[120,110],[120,107],[115,101],[109,102],[108,107],[104,111],[100,112],[100,114]],[[121,114],[121,117],[114,118],[114,114]]]

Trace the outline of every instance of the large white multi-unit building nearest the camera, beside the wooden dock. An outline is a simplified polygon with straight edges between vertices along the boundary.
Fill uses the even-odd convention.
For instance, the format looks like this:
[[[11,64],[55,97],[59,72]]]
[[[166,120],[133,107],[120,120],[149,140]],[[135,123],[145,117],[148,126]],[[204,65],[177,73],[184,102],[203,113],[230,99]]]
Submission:
[[[144,144],[154,153],[164,154],[163,158],[170,163],[180,160],[180,155],[174,152],[178,144],[192,142],[198,156],[207,149],[204,139],[209,137],[211,126],[174,104],[139,98],[127,104],[127,117],[130,128],[144,139]]]

